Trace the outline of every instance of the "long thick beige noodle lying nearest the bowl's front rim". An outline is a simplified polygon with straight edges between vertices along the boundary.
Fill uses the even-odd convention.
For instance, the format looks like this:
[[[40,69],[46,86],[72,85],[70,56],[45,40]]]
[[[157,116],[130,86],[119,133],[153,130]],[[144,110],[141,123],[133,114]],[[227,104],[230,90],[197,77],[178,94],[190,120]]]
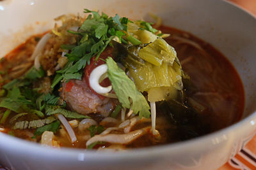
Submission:
[[[86,146],[95,143],[97,141],[104,141],[108,143],[128,144],[135,139],[146,134],[150,127],[138,129],[136,131],[129,132],[127,134],[106,134],[106,135],[95,135],[86,142]]]

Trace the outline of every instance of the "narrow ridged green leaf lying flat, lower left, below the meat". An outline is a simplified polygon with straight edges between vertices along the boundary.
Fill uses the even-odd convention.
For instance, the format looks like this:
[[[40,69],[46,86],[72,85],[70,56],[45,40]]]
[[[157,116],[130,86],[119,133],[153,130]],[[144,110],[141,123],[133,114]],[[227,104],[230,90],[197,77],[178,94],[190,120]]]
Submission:
[[[63,115],[66,118],[90,118],[86,115],[81,115],[79,113],[73,112],[73,111],[69,111],[69,110],[65,110],[63,108],[59,108],[56,106],[46,106],[45,107],[45,114],[46,115],[54,115],[60,113],[61,115]]]

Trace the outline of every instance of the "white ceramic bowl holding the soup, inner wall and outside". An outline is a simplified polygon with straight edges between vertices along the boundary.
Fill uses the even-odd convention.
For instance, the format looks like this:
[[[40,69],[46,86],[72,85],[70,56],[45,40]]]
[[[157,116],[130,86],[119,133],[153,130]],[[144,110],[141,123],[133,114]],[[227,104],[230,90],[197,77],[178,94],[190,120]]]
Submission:
[[[246,99],[243,120],[200,138],[120,153],[45,148],[0,133],[0,164],[10,169],[217,169],[252,138],[256,132],[256,20],[252,15],[220,0],[5,0],[0,1],[0,56],[31,34],[50,29],[54,17],[82,13],[83,8],[134,19],[152,12],[165,25],[211,43],[241,76]]]

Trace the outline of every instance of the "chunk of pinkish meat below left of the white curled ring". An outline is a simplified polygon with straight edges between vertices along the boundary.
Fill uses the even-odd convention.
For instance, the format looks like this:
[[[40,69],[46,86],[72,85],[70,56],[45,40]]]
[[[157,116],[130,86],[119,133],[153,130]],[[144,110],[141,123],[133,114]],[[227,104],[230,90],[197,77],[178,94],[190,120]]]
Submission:
[[[88,113],[100,113],[104,117],[108,117],[115,107],[115,101],[108,97],[100,99],[92,93],[83,80],[70,80],[74,84],[70,92],[65,92],[67,83],[63,83],[61,97],[66,101],[68,107],[77,113],[87,115]]]

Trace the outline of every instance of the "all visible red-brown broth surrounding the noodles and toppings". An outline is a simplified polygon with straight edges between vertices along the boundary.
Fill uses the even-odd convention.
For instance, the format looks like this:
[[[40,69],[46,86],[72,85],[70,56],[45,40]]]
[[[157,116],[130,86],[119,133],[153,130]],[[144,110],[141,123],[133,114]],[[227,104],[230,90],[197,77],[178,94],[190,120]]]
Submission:
[[[209,43],[205,43],[188,32],[166,26],[161,26],[159,29],[163,33],[171,34],[165,40],[175,48],[184,72],[190,77],[188,87],[184,83],[186,97],[188,97],[186,102],[195,108],[197,107],[198,114],[195,115],[193,112],[177,116],[168,109],[169,106],[166,103],[157,103],[156,129],[160,132],[161,138],[156,139],[154,136],[146,134],[126,145],[126,148],[163,145],[202,136],[234,124],[243,113],[243,85],[232,64]],[[8,74],[3,74],[3,83],[12,80],[13,73],[15,73],[13,77],[20,76],[33,65],[33,62],[26,59],[31,55],[36,42],[42,36],[43,34],[31,37],[26,43],[6,55],[0,64],[1,71],[8,70]],[[25,65],[26,69],[20,71],[17,68],[17,62]],[[11,115],[15,114],[11,113]],[[97,114],[90,116],[98,123],[103,119]],[[9,117],[8,121],[10,118],[12,116]],[[118,119],[120,120],[120,117]],[[29,141],[40,141],[38,137],[31,138],[35,130],[13,130],[12,125],[3,125],[8,129],[6,133]],[[150,122],[142,121],[132,127],[132,130],[149,126]],[[106,128],[108,125],[104,127]],[[70,143],[63,127],[55,134],[56,139],[60,141],[61,146],[86,148],[88,134],[79,134],[77,127],[74,128],[74,131],[77,134],[76,143]],[[120,132],[117,130],[112,133],[119,134]],[[109,144],[102,144],[97,147],[100,146],[105,147]]]

